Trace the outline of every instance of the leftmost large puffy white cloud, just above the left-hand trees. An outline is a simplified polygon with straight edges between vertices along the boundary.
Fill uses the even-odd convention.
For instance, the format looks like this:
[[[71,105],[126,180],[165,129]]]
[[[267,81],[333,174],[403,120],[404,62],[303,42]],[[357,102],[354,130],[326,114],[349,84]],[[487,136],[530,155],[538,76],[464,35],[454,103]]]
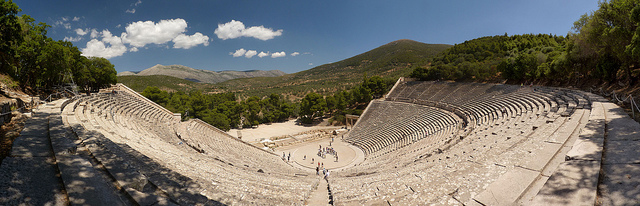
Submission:
[[[117,36],[113,36],[109,30],[103,30],[102,40],[92,39],[87,42],[87,47],[82,49],[83,56],[95,56],[112,58],[122,56],[127,52],[127,47],[122,43],[122,39]],[[108,44],[108,45],[107,45]]]

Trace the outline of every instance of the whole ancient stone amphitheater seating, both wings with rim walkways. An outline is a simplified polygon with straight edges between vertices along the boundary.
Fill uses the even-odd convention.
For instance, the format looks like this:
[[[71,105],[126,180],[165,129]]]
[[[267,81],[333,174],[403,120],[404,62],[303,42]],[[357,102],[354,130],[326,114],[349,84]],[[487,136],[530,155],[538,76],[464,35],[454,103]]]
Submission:
[[[114,91],[114,92],[112,92]],[[328,181],[123,85],[34,112],[0,204],[638,205],[640,125],[563,88],[400,79],[344,136]]]

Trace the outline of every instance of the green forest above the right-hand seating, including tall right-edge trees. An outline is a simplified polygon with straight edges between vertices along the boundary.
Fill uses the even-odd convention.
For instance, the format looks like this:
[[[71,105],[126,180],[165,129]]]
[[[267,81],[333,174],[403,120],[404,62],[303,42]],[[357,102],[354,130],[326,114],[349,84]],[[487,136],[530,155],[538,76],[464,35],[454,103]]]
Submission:
[[[567,36],[526,34],[482,37],[445,50],[428,67],[414,67],[421,80],[637,83],[640,66],[640,4],[601,1]]]

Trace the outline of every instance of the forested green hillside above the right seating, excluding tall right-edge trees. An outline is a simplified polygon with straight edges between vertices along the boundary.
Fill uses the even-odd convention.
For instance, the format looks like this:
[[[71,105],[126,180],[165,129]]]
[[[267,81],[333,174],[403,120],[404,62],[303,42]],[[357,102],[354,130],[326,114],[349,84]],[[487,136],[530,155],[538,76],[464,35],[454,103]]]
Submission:
[[[549,76],[551,68],[564,63],[562,60],[566,57],[562,53],[566,50],[566,40],[565,37],[548,34],[481,37],[438,54],[430,68],[416,68],[413,76],[429,80],[474,81]],[[517,69],[504,68],[516,64]],[[523,64],[536,68],[524,68],[529,65]],[[518,70],[521,68],[523,70]]]

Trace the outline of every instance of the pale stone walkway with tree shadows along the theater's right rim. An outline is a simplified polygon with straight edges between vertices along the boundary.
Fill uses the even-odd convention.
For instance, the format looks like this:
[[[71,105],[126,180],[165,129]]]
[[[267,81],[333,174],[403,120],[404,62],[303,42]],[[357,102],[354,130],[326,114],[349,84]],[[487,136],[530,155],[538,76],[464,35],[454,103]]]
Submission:
[[[640,205],[640,124],[602,98],[532,205]]]

